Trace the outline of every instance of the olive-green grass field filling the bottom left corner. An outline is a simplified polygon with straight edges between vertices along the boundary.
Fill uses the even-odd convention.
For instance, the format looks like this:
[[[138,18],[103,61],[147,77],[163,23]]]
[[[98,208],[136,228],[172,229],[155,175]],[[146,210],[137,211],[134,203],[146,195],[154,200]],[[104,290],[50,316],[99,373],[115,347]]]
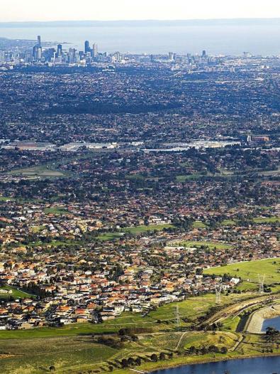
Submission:
[[[24,343],[23,343],[24,342]],[[90,337],[39,338],[6,341],[0,339],[1,373],[35,374],[49,372],[51,365],[55,372],[82,369],[89,365],[100,365],[117,353],[116,349],[93,343]],[[20,354],[19,354],[20,353]]]

